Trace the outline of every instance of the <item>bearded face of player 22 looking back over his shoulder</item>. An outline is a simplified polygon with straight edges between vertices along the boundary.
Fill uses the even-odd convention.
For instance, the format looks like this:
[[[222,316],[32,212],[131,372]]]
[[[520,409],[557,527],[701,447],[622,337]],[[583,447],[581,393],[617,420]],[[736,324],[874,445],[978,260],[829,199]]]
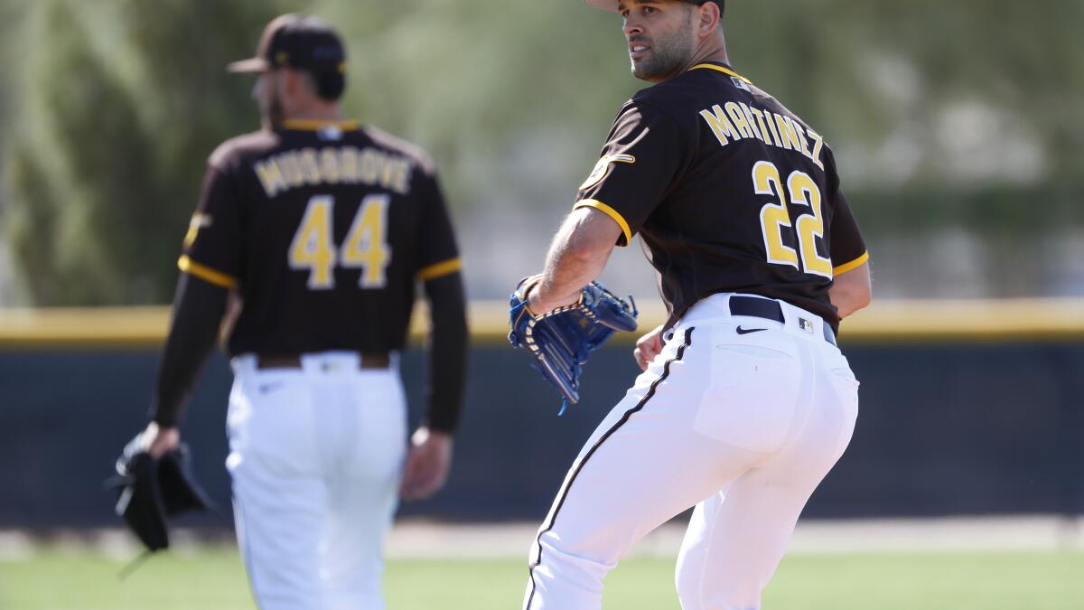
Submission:
[[[692,4],[676,0],[622,0],[632,74],[660,82],[686,67],[696,51]]]

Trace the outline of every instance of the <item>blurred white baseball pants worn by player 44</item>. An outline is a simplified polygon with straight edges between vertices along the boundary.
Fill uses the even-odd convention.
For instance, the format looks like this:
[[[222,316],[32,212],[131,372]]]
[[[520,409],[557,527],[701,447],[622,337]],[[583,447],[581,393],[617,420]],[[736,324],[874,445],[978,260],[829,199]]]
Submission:
[[[398,367],[357,354],[300,369],[233,359],[227,468],[253,596],[263,610],[383,609],[385,534],[405,455]]]

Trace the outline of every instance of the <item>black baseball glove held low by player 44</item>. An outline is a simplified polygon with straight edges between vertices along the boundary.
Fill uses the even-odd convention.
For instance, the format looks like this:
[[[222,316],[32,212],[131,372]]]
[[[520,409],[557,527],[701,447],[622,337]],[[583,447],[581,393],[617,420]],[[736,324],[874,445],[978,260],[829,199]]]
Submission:
[[[117,458],[117,475],[106,486],[117,491],[116,512],[151,551],[169,548],[166,519],[214,504],[192,474],[189,448],[180,447],[155,459],[137,435]]]

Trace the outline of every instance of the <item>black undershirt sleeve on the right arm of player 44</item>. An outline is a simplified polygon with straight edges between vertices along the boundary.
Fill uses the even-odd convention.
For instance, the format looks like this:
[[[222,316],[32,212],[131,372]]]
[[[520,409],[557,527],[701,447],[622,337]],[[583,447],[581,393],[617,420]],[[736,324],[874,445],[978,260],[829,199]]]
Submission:
[[[448,274],[425,282],[433,327],[429,331],[428,384],[423,421],[452,434],[459,427],[467,363],[466,298],[463,276]]]

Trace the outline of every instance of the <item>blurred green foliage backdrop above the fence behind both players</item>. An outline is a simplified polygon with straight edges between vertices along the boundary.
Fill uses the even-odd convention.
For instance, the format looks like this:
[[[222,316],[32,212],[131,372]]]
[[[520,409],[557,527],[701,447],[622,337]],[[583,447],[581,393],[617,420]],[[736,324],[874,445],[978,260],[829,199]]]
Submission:
[[[1084,3],[728,4],[732,63],[827,135],[867,232],[1084,225]],[[223,65],[286,11],[340,28],[348,114],[430,151],[460,212],[567,205],[642,86],[579,0],[0,0],[0,225],[29,301],[169,298],[208,153],[258,126]]]

